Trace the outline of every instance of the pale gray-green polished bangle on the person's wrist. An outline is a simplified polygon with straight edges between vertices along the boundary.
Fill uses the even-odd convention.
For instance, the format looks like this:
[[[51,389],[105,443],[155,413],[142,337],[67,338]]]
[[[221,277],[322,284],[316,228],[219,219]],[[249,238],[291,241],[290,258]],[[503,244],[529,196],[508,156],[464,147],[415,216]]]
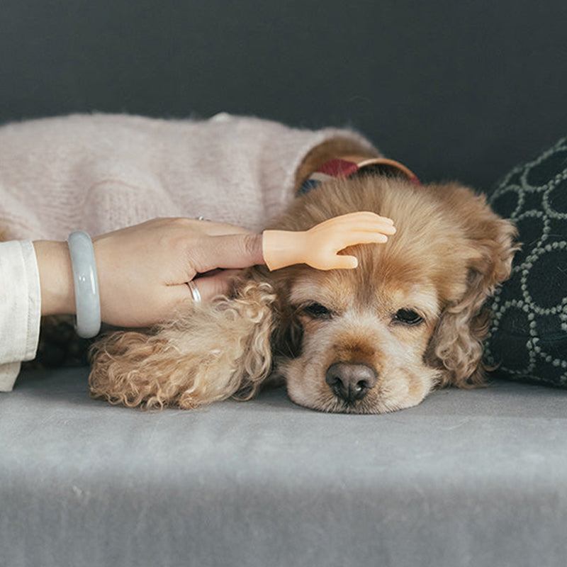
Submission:
[[[82,230],[71,232],[67,238],[73,266],[77,335],[85,339],[101,330],[101,299],[96,276],[94,248],[91,237]]]

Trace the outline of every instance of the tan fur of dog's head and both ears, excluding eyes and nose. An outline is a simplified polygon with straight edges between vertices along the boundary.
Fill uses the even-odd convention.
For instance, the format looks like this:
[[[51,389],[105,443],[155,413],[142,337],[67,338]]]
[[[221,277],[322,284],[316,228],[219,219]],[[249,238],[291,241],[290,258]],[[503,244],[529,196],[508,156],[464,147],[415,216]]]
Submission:
[[[372,210],[395,221],[386,245],[359,245],[355,270],[258,266],[234,296],[197,306],[147,333],[116,332],[92,352],[93,395],[144,408],[194,408],[249,398],[269,376],[317,410],[377,413],[420,403],[434,387],[483,383],[485,299],[510,275],[515,229],[482,196],[458,184],[415,186],[365,176],[298,198],[273,228],[303,230]],[[317,319],[317,302],[332,317]],[[400,324],[411,308],[425,321]],[[371,366],[376,386],[344,403],[325,382],[336,362]]]

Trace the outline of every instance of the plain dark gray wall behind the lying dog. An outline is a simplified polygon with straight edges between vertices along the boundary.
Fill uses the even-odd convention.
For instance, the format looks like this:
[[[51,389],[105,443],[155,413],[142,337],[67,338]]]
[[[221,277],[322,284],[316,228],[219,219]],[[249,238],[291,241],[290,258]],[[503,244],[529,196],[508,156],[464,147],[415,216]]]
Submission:
[[[481,188],[567,135],[567,2],[2,0],[0,121],[72,111],[352,125]]]

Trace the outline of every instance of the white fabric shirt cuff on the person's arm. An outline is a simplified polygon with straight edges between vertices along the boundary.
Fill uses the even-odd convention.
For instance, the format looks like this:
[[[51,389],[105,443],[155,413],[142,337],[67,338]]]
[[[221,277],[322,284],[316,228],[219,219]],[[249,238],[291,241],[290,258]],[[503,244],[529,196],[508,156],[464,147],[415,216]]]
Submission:
[[[40,330],[38,262],[29,240],[0,242],[0,391],[35,357]]]

